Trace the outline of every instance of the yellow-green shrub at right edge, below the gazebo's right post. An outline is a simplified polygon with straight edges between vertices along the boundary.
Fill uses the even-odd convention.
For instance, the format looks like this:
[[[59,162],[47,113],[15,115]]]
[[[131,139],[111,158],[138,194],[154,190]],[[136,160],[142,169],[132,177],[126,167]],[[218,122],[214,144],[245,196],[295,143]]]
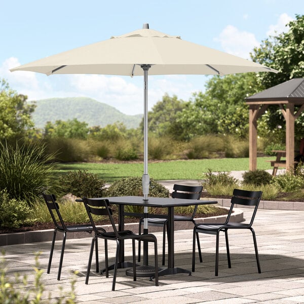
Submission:
[[[293,172],[279,174],[272,179],[272,183],[283,192],[292,192],[304,187],[304,178]]]

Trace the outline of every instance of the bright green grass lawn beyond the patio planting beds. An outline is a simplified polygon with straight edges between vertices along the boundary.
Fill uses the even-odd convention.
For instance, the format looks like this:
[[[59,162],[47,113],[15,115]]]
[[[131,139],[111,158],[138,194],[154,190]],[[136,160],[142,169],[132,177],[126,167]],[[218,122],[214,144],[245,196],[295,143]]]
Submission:
[[[257,169],[272,169],[269,162],[274,157],[257,158]],[[75,163],[63,164],[63,168],[58,172],[64,174],[72,170],[87,170],[97,174],[106,182],[113,182],[117,179],[128,176],[142,176],[142,162],[126,163]],[[178,160],[166,162],[150,162],[148,173],[150,178],[155,180],[168,179],[202,179],[204,172],[208,169],[214,172],[229,172],[249,170],[249,158],[223,158],[223,159],[202,159],[202,160]]]

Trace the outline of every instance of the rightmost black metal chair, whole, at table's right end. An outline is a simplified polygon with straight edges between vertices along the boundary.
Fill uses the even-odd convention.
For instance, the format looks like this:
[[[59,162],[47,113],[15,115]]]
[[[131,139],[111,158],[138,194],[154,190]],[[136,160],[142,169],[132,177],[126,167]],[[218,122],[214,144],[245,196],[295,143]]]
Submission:
[[[216,235],[216,251],[215,251],[215,276],[218,275],[218,247],[219,247],[219,233],[222,231],[225,233],[225,241],[226,241],[226,250],[227,250],[227,260],[228,267],[231,268],[231,260],[230,260],[230,251],[229,251],[229,242],[228,242],[228,233],[229,229],[249,229],[252,233],[254,250],[255,250],[255,258],[257,263],[258,273],[261,273],[257,244],[255,238],[255,232],[252,228],[253,220],[258,208],[259,201],[261,199],[262,192],[261,191],[245,191],[240,189],[234,189],[233,197],[231,199],[231,207],[229,213],[227,215],[227,219],[224,223],[206,223],[206,224],[196,224],[193,230],[193,251],[192,251],[192,271],[195,271],[195,244],[196,237],[199,233]],[[235,205],[242,206],[254,206],[252,210],[252,216],[248,223],[238,223],[231,222],[230,216],[233,212]],[[198,242],[198,247],[200,249],[200,244]],[[201,251],[199,250],[200,262],[203,261]]]

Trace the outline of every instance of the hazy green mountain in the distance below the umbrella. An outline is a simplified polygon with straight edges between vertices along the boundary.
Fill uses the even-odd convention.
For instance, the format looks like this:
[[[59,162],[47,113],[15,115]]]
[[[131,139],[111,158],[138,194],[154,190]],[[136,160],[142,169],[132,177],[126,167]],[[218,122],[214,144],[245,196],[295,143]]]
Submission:
[[[47,122],[67,121],[74,118],[86,122],[89,127],[123,123],[127,129],[138,128],[143,115],[126,115],[113,106],[88,97],[48,98],[35,101],[32,120],[36,128],[44,128]]]

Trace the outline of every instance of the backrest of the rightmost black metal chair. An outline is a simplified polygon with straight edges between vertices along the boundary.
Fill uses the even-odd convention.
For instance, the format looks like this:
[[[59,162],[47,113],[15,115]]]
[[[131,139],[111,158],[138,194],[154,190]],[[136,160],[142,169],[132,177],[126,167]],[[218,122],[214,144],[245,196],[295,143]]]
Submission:
[[[247,191],[241,189],[234,189],[233,197],[231,198],[231,207],[229,210],[229,214],[227,215],[226,223],[229,222],[230,216],[232,214],[235,205],[254,206],[252,216],[248,224],[248,226],[251,226],[253,224],[253,220],[261,197],[262,197],[261,191]]]

